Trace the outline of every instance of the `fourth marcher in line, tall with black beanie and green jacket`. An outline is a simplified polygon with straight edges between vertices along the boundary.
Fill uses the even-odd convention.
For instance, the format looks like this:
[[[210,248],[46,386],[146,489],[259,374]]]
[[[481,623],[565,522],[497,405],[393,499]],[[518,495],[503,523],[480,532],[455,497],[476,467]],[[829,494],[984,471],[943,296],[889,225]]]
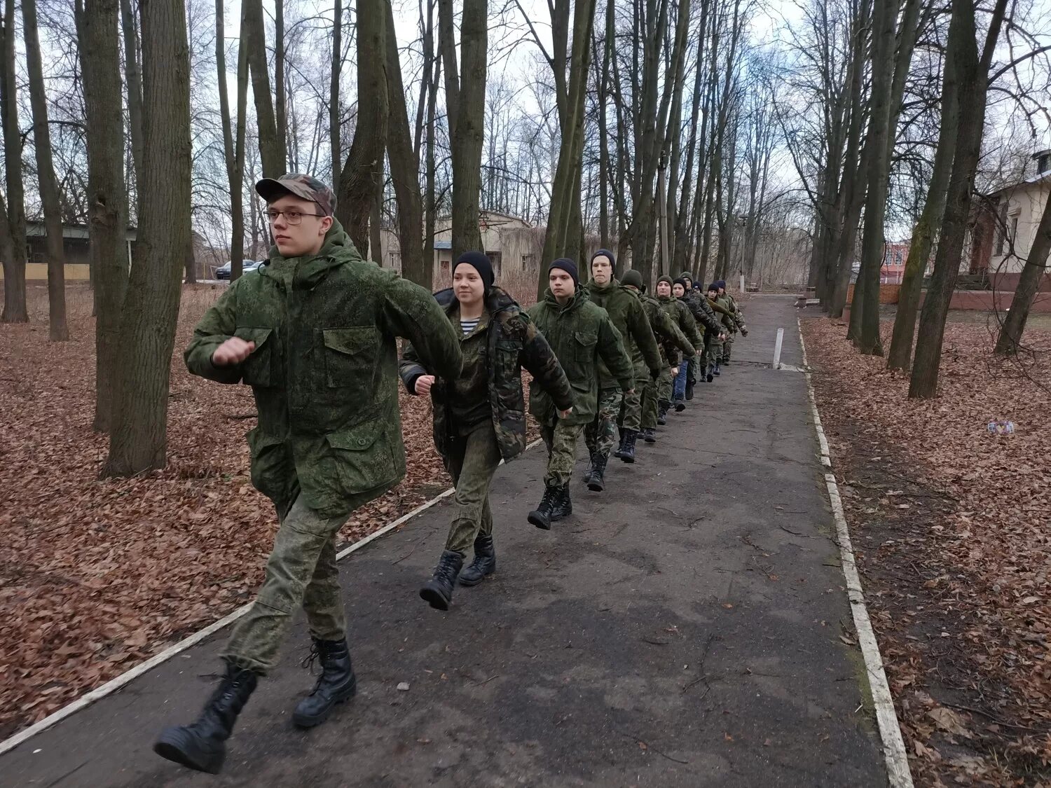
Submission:
[[[610,313],[610,319],[623,337],[624,350],[635,366],[635,386],[634,393],[621,397],[615,377],[607,369],[599,367],[599,413],[584,433],[591,453],[591,466],[584,476],[584,482],[590,490],[596,492],[604,486],[605,464],[617,436],[618,421],[622,429],[616,456],[624,462],[635,462],[635,441],[642,429],[642,390],[647,379],[656,380],[660,376],[664,366],[650,320],[646,319],[645,309],[635,293],[613,275],[615,263],[613,252],[609,249],[595,252],[591,262],[592,278],[588,283],[588,292],[593,304]]]

